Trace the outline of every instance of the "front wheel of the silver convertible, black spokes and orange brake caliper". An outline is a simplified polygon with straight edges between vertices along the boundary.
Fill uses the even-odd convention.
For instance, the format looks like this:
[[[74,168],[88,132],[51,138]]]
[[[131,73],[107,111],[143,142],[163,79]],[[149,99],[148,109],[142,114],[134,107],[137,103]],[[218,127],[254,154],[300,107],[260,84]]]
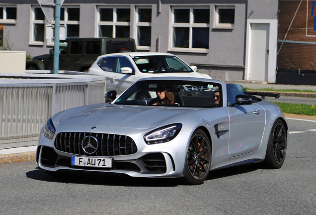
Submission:
[[[198,129],[193,133],[185,160],[185,182],[202,184],[210,172],[212,160],[211,144],[203,130]]]

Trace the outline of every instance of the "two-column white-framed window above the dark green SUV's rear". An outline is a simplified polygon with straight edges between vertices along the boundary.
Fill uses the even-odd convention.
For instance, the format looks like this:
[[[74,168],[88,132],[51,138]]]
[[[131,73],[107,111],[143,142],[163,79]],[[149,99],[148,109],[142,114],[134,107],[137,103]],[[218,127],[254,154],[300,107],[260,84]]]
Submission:
[[[98,37],[130,37],[129,7],[98,7]]]

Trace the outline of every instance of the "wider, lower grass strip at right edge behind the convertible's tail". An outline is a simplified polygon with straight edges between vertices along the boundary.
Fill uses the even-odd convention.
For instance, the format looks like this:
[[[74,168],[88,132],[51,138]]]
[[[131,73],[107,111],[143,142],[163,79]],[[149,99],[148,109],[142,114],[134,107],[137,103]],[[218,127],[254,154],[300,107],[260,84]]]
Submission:
[[[279,102],[274,102],[274,104],[278,105],[284,113],[316,116],[316,106],[314,105],[289,104]]]

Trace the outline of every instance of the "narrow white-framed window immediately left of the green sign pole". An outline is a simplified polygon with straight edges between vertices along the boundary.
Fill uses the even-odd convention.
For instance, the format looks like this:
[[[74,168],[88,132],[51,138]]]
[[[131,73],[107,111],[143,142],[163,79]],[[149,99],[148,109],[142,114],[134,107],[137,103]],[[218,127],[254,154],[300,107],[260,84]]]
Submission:
[[[33,7],[32,42],[43,44],[45,35],[45,16],[41,7]]]

